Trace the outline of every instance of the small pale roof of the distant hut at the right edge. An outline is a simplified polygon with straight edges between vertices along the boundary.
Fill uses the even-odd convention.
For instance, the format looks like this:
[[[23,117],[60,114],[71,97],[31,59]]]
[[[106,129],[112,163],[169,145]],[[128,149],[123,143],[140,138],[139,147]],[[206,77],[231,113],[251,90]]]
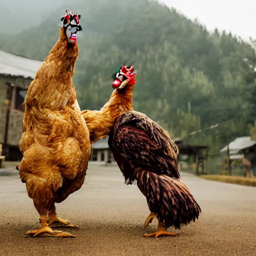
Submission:
[[[253,145],[256,144],[255,140],[252,140],[250,138],[250,136],[243,136],[243,137],[237,137],[235,138],[233,141],[231,141],[228,144],[229,147],[229,153],[230,154],[235,154],[237,153],[239,150],[245,149],[245,148],[249,148]],[[224,152],[227,150],[227,146],[225,145],[223,148],[221,148],[219,151],[220,152]]]

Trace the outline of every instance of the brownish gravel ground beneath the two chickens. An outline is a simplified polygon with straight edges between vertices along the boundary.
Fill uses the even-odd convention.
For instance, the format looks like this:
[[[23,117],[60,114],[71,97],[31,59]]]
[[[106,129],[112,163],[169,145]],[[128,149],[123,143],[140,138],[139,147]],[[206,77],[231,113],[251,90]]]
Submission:
[[[0,176],[0,255],[256,255],[256,187],[181,173],[199,203],[199,219],[178,237],[143,237],[149,214],[136,185],[125,185],[117,166],[89,164],[81,189],[56,204],[60,217],[80,226],[76,238],[24,237],[38,213],[18,175]],[[171,230],[171,228],[169,229]]]

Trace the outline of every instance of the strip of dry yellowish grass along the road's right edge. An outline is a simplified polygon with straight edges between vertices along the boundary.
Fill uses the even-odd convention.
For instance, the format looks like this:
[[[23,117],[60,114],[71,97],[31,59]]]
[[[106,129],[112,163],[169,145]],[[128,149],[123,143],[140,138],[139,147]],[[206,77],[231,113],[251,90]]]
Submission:
[[[228,175],[200,175],[200,177],[239,185],[256,186],[256,178]]]

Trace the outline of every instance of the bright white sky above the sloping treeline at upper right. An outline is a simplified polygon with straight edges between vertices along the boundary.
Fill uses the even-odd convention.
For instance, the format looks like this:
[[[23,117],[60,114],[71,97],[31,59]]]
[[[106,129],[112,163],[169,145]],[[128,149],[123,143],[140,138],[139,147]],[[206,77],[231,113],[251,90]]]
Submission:
[[[256,0],[160,0],[197,18],[209,30],[225,29],[248,40],[256,39]]]

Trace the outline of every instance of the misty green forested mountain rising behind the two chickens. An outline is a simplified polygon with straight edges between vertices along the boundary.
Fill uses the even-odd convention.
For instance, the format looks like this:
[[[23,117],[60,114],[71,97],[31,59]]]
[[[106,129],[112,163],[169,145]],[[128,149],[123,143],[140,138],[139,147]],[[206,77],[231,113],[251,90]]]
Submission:
[[[121,64],[134,64],[134,109],[172,136],[187,137],[232,118],[191,137],[217,150],[248,134],[256,119],[256,56],[248,43],[217,29],[210,34],[175,9],[148,0],[75,1],[71,9],[81,14],[74,75],[81,109],[99,109],[112,92],[111,74]],[[8,41],[0,39],[0,47],[43,60],[58,37],[63,11],[48,13],[39,26]]]

